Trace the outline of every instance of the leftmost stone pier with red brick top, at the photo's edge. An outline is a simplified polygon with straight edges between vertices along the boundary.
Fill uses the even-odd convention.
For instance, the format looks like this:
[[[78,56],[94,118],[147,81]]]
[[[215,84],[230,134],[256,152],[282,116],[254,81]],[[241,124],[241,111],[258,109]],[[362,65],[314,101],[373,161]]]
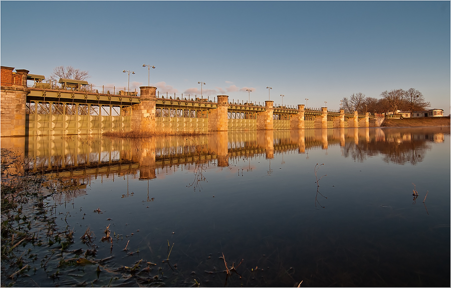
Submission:
[[[13,67],[1,67],[2,87],[0,106],[2,107],[0,117],[1,135],[25,136],[26,135],[26,102],[30,90],[27,88],[27,76],[29,71],[25,69],[16,70]]]

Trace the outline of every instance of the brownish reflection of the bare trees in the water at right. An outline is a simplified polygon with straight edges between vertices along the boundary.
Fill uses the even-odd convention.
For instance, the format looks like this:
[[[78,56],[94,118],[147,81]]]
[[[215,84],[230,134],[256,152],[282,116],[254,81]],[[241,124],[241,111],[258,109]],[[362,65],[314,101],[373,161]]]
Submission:
[[[426,139],[433,139],[433,135],[389,134],[385,141],[373,139],[371,142],[359,141],[359,144],[346,142],[342,153],[359,162],[363,162],[366,157],[382,154],[383,161],[387,163],[416,165],[424,159],[426,151],[430,150]]]

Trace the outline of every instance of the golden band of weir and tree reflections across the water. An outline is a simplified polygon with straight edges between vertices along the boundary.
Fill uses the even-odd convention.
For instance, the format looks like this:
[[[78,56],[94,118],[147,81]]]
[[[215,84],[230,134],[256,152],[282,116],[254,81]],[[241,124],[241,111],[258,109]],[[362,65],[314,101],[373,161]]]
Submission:
[[[140,179],[154,179],[160,171],[168,168],[190,170],[195,165],[208,163],[227,167],[229,161],[239,161],[240,158],[264,155],[272,159],[274,153],[306,153],[311,149],[326,150],[332,146],[342,147],[345,157],[361,161],[367,154],[384,154],[385,161],[414,164],[424,157],[426,143],[442,142],[443,134],[449,134],[449,127],[417,129],[419,133],[416,134],[409,131],[411,129],[341,128],[217,132],[189,138],[172,136],[142,141],[44,136],[27,138],[27,147],[19,153],[29,160],[27,170],[58,173],[61,177],[73,179],[114,175],[136,177],[138,173]],[[9,140],[13,141],[10,143]],[[20,151],[18,143],[21,141],[25,142],[2,138],[2,147],[11,144]],[[396,149],[391,149],[390,145],[396,145]],[[391,155],[390,151],[397,154]],[[417,155],[414,161],[409,160],[411,157],[407,153]]]

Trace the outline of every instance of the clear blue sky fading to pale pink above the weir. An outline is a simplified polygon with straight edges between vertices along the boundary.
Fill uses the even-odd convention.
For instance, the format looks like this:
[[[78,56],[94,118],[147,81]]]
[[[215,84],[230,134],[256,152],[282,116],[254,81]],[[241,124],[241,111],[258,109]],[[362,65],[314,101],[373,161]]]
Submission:
[[[353,93],[381,98],[415,88],[430,108],[450,113],[449,1],[2,1],[0,8],[1,65],[46,78],[72,66],[88,71],[94,86],[139,90],[148,64],[156,67],[151,86],[183,98],[199,96],[202,82],[209,99],[339,109]],[[128,80],[123,70],[135,74]]]

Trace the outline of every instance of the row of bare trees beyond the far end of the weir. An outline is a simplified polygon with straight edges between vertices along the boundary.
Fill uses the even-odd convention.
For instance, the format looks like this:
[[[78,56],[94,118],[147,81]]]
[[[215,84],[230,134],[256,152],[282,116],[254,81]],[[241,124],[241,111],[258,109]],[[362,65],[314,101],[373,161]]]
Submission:
[[[366,97],[363,93],[352,94],[349,98],[341,100],[341,108],[345,113],[386,113],[389,111],[396,114],[397,110],[422,111],[430,107],[430,103],[424,100],[421,92],[414,88],[408,90],[394,89],[385,90],[380,94],[382,98]]]

